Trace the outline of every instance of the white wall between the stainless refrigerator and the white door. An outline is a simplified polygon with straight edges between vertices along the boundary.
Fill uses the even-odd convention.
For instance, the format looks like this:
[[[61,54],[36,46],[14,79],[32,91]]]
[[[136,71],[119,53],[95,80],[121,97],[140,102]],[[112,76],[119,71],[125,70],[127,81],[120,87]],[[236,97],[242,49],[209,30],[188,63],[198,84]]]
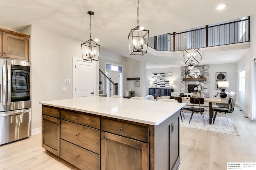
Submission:
[[[72,57],[82,58],[81,41],[31,26],[32,134],[41,132],[41,101],[72,98]],[[70,78],[70,83],[65,83]],[[62,87],[67,91],[62,92]]]

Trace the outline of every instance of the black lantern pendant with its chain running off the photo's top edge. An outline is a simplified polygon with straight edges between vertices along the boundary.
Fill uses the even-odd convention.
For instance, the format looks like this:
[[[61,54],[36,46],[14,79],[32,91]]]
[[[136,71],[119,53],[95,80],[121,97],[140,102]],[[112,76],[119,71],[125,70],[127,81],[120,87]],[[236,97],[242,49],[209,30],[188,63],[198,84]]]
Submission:
[[[130,55],[144,55],[148,51],[148,30],[139,26],[139,0],[137,0],[137,26],[131,29],[128,39]]]

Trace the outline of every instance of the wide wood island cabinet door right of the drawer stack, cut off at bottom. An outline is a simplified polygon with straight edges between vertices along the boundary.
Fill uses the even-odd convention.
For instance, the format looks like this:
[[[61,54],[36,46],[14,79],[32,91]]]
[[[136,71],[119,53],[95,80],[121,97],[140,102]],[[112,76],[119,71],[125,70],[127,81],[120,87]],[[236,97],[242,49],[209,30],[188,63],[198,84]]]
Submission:
[[[148,170],[148,143],[102,132],[102,170]]]

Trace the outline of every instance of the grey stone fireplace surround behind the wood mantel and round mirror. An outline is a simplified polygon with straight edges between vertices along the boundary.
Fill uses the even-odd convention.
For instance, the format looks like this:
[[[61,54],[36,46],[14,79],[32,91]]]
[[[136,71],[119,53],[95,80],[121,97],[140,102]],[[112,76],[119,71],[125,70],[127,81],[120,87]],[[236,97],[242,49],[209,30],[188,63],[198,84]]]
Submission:
[[[198,67],[201,74],[206,78],[206,81],[198,81],[199,84],[202,82],[204,83],[204,86],[202,86],[201,92],[204,93],[204,97],[209,98],[209,65],[201,65],[201,67]],[[189,70],[188,66],[182,66],[181,67],[181,82],[180,82],[180,92],[181,93],[187,93],[188,92],[188,84],[195,84],[196,85],[196,78],[194,78],[194,81],[183,81],[183,78],[186,78],[185,71]]]

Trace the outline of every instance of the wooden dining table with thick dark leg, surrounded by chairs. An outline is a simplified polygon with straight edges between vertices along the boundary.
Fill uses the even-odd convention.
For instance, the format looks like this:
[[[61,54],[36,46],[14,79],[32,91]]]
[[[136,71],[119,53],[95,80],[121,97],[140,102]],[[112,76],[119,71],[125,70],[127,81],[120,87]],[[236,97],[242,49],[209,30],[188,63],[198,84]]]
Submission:
[[[158,99],[169,99],[170,96],[161,96],[156,98]],[[182,97],[182,101],[190,101],[190,97]],[[213,98],[204,98],[204,102],[209,103],[209,124],[212,124],[212,103],[223,103],[221,98],[213,97]],[[226,102],[225,102],[226,103]]]

